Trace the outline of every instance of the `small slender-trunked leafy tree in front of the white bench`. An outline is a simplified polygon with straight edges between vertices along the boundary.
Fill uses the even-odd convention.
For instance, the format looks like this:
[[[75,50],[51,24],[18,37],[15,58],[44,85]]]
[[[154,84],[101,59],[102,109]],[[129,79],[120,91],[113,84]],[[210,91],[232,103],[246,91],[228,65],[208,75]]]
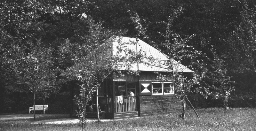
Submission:
[[[39,42],[40,43],[40,42]],[[41,93],[43,99],[48,97],[52,91],[52,85],[56,81],[56,74],[54,72],[52,50],[44,49],[40,47],[33,47],[30,53],[23,54],[19,59],[13,60],[15,66],[13,66],[16,75],[19,76],[20,83],[26,85],[34,95],[34,106],[35,106],[35,95]],[[35,110],[34,110],[34,119]]]

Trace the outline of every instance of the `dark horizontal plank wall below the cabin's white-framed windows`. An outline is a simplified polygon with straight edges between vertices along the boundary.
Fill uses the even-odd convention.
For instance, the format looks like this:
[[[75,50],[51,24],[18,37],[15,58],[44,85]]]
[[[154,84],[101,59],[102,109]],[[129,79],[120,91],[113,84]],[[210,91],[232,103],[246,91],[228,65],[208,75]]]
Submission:
[[[181,101],[175,95],[140,96],[140,116],[180,112]]]

